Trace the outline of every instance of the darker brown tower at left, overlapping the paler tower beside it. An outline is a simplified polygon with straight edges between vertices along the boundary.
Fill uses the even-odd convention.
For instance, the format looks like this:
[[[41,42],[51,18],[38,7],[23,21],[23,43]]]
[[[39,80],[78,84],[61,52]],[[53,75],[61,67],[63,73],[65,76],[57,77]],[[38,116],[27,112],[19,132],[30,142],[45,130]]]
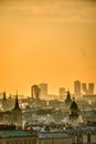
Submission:
[[[32,85],[31,86],[31,96],[32,99],[39,100],[40,99],[40,88],[39,85]]]

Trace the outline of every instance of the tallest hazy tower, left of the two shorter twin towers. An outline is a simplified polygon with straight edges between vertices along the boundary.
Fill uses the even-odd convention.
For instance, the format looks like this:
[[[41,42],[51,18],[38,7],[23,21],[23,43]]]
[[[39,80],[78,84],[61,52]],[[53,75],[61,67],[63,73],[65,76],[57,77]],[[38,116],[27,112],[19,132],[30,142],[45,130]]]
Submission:
[[[81,97],[81,82],[79,81],[74,82],[74,94],[76,99]]]

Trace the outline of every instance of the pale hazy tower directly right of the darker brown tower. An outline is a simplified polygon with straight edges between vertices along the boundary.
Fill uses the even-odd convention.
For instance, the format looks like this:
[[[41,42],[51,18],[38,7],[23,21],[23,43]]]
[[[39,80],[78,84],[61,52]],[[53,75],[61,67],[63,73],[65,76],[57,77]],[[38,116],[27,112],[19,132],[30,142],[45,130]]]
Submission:
[[[47,83],[40,83],[40,97],[47,99]]]

